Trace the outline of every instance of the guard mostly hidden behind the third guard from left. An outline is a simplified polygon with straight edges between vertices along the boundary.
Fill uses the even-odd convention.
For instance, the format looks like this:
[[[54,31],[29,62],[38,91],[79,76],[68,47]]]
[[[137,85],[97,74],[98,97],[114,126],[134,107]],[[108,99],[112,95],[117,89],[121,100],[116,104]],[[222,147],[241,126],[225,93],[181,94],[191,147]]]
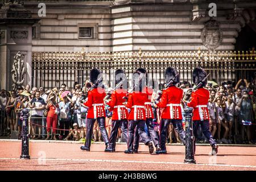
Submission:
[[[137,69],[137,72],[145,74],[146,81],[147,81],[147,71],[146,71],[146,69],[139,68],[139,69]],[[149,137],[152,139],[152,141],[153,141],[153,143],[156,147],[156,151],[160,151],[161,148],[160,148],[160,145],[159,145],[158,134],[154,130],[154,126],[153,126],[154,113],[153,113],[153,110],[152,110],[152,102],[151,102],[153,89],[148,87],[148,86],[145,86],[142,90],[142,93],[147,94],[147,101],[144,103],[144,105],[145,105],[145,114],[146,114],[146,125],[147,125],[147,129],[148,129],[148,133],[150,134]],[[139,134],[138,134],[138,131],[136,129],[135,136],[134,136],[134,153],[138,153],[138,148],[139,148]]]

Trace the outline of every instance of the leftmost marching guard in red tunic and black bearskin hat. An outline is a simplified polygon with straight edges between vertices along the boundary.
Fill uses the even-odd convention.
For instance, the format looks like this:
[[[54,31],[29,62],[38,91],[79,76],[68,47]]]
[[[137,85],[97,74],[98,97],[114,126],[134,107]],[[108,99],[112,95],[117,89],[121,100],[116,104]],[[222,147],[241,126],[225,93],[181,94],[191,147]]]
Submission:
[[[102,138],[108,148],[109,139],[108,133],[105,128],[105,105],[104,97],[106,96],[104,88],[102,88],[102,73],[94,68],[90,71],[90,82],[92,82],[92,88],[88,91],[88,100],[84,103],[89,108],[86,121],[86,141],[85,145],[81,146],[81,150],[90,151],[90,142],[92,139],[94,122],[97,119]],[[106,149],[105,149],[106,150]]]

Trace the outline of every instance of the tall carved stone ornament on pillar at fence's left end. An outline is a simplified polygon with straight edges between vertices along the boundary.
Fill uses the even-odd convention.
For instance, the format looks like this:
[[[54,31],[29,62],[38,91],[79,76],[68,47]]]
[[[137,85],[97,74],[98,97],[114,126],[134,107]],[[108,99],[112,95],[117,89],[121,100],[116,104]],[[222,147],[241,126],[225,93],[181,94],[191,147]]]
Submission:
[[[12,78],[14,84],[13,89],[15,90],[18,86],[21,86],[24,83],[24,75],[26,73],[25,71],[25,66],[24,66],[24,60],[23,60],[24,55],[22,55],[19,52],[16,53],[14,56],[14,63],[13,63],[13,69],[11,70]]]

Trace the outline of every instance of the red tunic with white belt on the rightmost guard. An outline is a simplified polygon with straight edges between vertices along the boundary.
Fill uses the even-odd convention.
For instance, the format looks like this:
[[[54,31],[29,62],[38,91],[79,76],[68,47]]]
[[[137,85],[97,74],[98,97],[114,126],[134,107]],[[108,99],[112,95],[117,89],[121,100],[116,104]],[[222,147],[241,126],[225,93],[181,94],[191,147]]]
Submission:
[[[193,107],[193,121],[209,119],[209,111],[207,108],[210,93],[207,89],[199,88],[192,92],[191,102],[187,105]]]

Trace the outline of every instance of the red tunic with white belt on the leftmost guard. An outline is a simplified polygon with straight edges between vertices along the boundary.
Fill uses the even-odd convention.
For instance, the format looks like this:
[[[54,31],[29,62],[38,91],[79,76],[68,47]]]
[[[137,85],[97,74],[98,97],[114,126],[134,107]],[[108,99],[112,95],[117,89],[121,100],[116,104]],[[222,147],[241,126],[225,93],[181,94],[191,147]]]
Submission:
[[[88,100],[84,103],[89,107],[87,118],[97,119],[99,117],[106,117],[104,98],[106,92],[104,89],[98,87],[88,92]]]

